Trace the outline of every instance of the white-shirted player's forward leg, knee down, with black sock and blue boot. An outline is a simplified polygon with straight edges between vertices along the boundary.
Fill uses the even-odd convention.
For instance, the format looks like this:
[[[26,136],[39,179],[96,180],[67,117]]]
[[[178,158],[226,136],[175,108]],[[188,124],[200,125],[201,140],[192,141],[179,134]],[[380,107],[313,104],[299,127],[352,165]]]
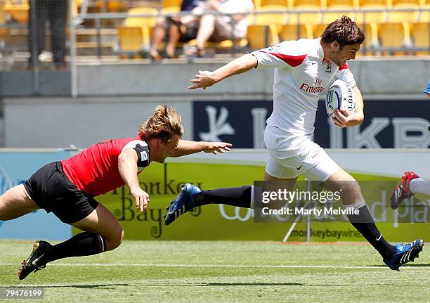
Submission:
[[[381,254],[384,262],[390,269],[398,270],[400,266],[413,262],[422,251],[424,241],[415,240],[406,245],[391,245],[382,233],[379,232],[372,215],[360,190],[358,182],[340,167],[323,187],[330,191],[339,191],[344,207],[353,209],[353,214],[348,214],[351,224],[363,235],[363,237]]]

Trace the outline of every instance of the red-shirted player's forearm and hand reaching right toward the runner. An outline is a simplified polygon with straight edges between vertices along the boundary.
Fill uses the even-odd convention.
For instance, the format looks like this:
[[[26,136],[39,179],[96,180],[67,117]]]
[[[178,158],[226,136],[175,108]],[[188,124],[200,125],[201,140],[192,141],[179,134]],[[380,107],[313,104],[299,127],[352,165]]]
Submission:
[[[226,153],[230,151],[232,144],[226,142],[205,142],[205,141],[186,141],[179,140],[178,146],[174,150],[171,157],[181,157],[183,155],[191,155],[193,153]]]

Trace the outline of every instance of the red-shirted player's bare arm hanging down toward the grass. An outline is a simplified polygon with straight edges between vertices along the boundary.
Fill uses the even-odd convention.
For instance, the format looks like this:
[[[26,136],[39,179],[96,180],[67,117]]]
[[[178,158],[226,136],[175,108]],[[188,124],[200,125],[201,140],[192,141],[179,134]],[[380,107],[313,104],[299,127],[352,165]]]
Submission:
[[[137,176],[138,155],[136,150],[125,148],[118,156],[118,169],[124,182],[129,186],[131,195],[136,200],[136,208],[141,212],[146,211],[150,198],[148,193],[142,190]]]

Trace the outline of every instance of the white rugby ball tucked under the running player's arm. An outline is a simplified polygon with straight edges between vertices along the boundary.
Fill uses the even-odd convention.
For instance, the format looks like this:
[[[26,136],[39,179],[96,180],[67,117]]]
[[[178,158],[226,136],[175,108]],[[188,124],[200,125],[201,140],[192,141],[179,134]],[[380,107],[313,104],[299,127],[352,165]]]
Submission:
[[[353,88],[340,79],[333,82],[325,98],[325,110],[329,117],[332,117],[336,108],[351,110],[351,112],[356,110],[356,94],[354,94]]]

